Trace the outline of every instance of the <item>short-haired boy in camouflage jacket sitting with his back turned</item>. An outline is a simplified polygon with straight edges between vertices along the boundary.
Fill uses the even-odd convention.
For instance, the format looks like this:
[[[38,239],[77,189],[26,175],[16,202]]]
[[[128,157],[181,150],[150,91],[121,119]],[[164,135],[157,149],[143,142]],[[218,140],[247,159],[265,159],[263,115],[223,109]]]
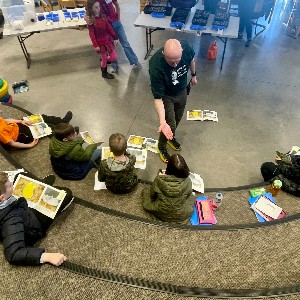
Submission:
[[[107,189],[113,193],[129,193],[138,183],[137,171],[134,168],[136,158],[126,153],[127,141],[120,133],[110,136],[109,147],[114,157],[101,161],[98,179],[105,181]]]

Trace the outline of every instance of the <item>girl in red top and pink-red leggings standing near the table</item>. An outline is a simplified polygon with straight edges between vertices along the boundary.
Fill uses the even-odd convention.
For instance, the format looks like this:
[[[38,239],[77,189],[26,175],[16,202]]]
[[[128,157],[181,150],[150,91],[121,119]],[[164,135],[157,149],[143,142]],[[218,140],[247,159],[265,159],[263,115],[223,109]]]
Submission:
[[[111,62],[113,71],[117,72],[117,52],[114,43],[117,43],[118,38],[102,14],[98,0],[88,0],[87,13],[93,21],[92,25],[88,25],[89,35],[93,47],[101,55],[102,77],[113,79],[115,76],[107,72],[107,62]]]

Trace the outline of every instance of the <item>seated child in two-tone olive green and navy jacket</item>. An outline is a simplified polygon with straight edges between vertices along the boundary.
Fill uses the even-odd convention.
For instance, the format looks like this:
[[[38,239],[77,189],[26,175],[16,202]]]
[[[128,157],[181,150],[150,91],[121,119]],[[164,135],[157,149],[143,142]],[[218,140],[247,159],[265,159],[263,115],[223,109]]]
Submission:
[[[54,130],[49,153],[55,173],[62,179],[80,180],[85,178],[93,167],[98,167],[101,151],[96,144],[83,149],[84,140],[78,135],[72,125],[61,123]]]

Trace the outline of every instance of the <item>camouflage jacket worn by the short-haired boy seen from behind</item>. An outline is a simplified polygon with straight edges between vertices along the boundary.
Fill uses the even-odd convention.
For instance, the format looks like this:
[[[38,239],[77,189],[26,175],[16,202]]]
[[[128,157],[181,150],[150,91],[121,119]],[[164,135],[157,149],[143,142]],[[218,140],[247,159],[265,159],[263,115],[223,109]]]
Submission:
[[[126,154],[128,164],[120,170],[111,170],[107,160],[102,160],[99,166],[98,179],[105,181],[108,190],[115,194],[130,193],[138,184],[137,171],[134,168],[135,156]]]

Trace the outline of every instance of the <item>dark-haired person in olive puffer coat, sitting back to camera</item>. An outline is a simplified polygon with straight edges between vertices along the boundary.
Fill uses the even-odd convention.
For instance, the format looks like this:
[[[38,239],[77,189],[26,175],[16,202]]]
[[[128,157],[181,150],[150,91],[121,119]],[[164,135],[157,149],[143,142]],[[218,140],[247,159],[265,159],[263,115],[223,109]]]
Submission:
[[[152,183],[150,195],[144,191],[144,209],[161,221],[187,223],[195,202],[189,174],[184,158],[172,155],[166,172],[160,171]]]

